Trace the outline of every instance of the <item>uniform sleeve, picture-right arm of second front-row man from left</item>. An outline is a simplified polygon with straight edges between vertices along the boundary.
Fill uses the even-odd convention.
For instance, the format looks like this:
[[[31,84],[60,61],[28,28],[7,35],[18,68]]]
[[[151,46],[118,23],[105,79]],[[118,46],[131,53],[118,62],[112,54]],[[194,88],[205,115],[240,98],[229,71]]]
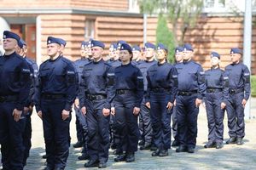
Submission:
[[[73,105],[73,101],[77,94],[78,81],[76,76],[76,71],[72,64],[67,65],[66,69],[66,83],[67,83],[67,96],[65,110],[70,111]]]

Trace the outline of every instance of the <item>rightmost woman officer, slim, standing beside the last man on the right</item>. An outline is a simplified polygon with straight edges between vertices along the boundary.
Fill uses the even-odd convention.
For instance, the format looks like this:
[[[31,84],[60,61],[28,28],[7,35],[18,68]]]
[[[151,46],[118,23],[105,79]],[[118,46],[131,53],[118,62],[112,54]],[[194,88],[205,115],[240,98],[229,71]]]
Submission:
[[[224,80],[224,71],[219,68],[220,55],[217,52],[211,54],[212,68],[206,71],[206,109],[208,121],[208,142],[205,148],[223,147],[224,133],[224,110],[221,108],[221,103],[227,103],[228,94],[227,83]],[[226,93],[226,94],[224,94]]]

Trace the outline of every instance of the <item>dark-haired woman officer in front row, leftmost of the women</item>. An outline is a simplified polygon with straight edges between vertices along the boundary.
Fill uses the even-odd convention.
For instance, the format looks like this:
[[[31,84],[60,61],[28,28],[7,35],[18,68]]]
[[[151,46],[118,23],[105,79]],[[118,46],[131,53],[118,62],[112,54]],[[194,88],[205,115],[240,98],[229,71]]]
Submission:
[[[131,162],[135,161],[134,153],[137,151],[139,138],[137,116],[143,101],[143,75],[131,64],[132,48],[129,44],[121,44],[119,57],[122,65],[114,70],[116,95],[112,114],[115,115],[114,126],[120,137],[117,150],[122,152],[114,161]]]

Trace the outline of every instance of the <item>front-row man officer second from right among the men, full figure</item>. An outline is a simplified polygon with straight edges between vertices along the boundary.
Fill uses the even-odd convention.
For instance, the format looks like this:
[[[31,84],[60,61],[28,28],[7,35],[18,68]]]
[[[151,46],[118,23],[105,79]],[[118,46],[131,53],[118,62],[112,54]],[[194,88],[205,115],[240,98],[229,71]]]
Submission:
[[[183,46],[183,69],[177,81],[177,130],[180,145],[176,152],[195,152],[197,116],[206,92],[205,72],[201,65],[192,60],[194,49],[190,44]]]

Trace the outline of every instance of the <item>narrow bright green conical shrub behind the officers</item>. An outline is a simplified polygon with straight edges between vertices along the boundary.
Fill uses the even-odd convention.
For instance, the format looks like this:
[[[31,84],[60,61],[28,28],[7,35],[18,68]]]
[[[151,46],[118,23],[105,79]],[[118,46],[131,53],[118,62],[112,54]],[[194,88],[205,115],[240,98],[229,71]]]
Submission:
[[[156,42],[161,42],[166,45],[166,47],[168,48],[168,60],[169,62],[173,62],[175,48],[174,37],[167,26],[166,17],[162,14],[160,14],[158,17],[158,23],[156,28]]]

